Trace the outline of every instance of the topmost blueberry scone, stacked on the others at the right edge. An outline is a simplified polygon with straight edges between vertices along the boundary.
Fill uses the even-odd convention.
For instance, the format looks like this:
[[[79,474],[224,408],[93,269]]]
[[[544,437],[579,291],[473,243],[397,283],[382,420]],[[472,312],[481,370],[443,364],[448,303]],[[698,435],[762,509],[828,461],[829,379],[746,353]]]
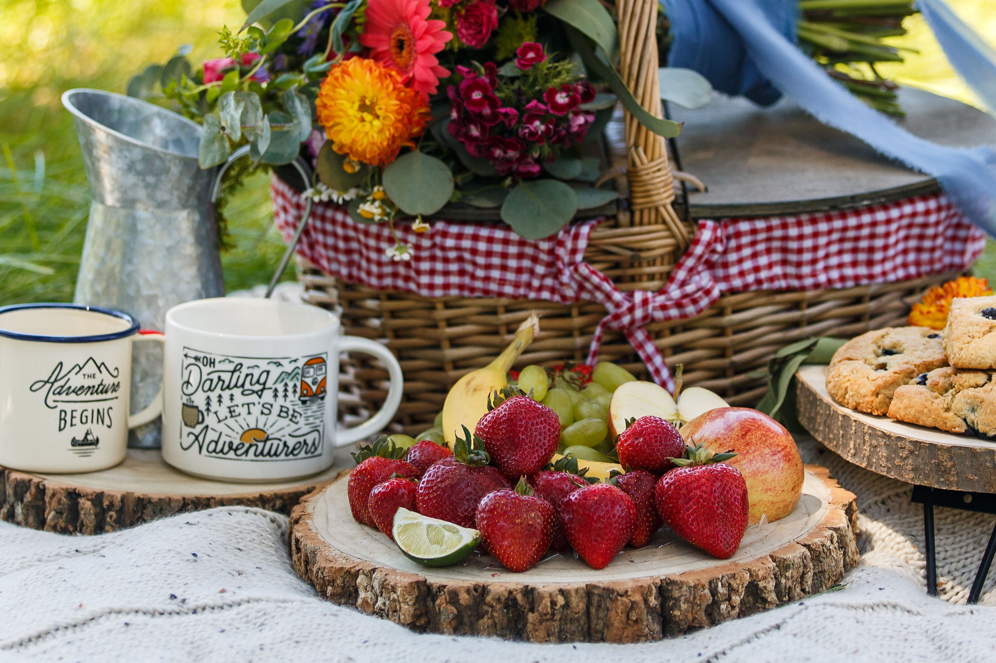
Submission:
[[[944,351],[959,369],[996,369],[996,296],[951,300]]]

